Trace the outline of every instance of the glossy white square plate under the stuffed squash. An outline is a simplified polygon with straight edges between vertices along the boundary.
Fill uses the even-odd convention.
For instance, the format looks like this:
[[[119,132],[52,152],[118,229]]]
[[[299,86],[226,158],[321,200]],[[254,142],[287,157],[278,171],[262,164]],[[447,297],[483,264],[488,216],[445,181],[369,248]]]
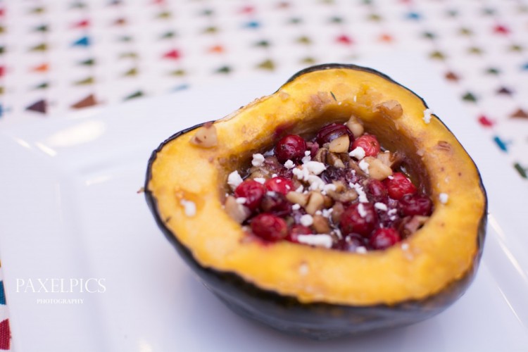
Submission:
[[[259,76],[0,132],[0,258],[13,348],[527,351],[527,189],[427,63],[394,56],[365,65],[419,92],[484,177],[491,215],[482,265],[451,308],[411,327],[315,343],[239,318],[194,279],[136,192],[163,139],[288,77]]]

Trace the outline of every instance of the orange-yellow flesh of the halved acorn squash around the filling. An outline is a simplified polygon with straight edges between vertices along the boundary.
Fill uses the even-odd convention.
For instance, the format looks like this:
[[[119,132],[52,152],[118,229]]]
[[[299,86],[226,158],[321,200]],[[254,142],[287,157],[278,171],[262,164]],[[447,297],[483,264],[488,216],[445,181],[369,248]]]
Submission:
[[[390,100],[403,107],[397,120],[375,111]],[[372,306],[426,298],[472,270],[486,208],[470,156],[434,115],[424,122],[426,108],[413,92],[374,73],[347,68],[306,73],[216,121],[215,148],[192,145],[193,131],[165,144],[153,162],[147,191],[168,230],[205,268],[234,272],[303,303]],[[314,132],[352,113],[383,146],[411,159],[411,171],[434,202],[425,227],[403,241],[405,246],[365,254],[248,241],[222,206],[227,175],[277,142],[277,131]],[[448,194],[445,204],[441,193]],[[185,214],[182,199],[196,204],[195,215]]]

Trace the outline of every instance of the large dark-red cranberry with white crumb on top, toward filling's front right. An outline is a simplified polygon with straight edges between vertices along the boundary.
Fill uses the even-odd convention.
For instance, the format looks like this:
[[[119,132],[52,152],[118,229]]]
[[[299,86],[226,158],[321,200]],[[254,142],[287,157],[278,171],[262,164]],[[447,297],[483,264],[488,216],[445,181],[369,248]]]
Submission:
[[[363,207],[360,212],[358,208]],[[364,216],[361,213],[364,212]],[[339,227],[344,235],[356,233],[369,237],[377,225],[377,213],[371,203],[356,203],[345,209],[339,221]]]

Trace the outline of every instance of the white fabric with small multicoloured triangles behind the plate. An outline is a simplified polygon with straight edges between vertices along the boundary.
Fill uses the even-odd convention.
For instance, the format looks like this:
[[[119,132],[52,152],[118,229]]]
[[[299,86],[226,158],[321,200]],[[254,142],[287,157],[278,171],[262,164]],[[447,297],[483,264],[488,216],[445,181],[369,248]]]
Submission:
[[[413,51],[528,180],[527,37],[528,0],[0,0],[0,128]]]

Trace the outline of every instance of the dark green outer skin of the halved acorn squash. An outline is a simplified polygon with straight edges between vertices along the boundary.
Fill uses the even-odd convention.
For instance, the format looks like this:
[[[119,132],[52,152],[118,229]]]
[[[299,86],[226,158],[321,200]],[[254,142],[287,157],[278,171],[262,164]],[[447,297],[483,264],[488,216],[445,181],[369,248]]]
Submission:
[[[341,64],[318,65],[307,68],[291,77],[288,82],[305,73],[327,68],[364,70],[394,82],[386,75],[370,68]],[[152,177],[152,164],[156,160],[158,152],[163,149],[163,146],[201,125],[177,132],[153,151],[146,172],[145,196],[158,227],[161,228],[165,236],[175,246],[180,256],[199,275],[203,284],[234,312],[291,334],[313,339],[329,339],[348,334],[360,334],[390,327],[410,325],[430,318],[451,306],[454,301],[463,295],[472,279],[474,279],[482,256],[482,250],[484,249],[487,214],[486,192],[480,175],[478,175],[479,184],[484,194],[485,204],[476,237],[477,253],[472,258],[471,268],[465,272],[465,275],[451,282],[451,284],[436,292],[436,294],[426,298],[392,305],[376,304],[372,306],[347,306],[325,302],[303,303],[294,296],[277,294],[275,291],[261,289],[237,275],[236,272],[225,272],[204,267],[165,225],[165,221],[161,218],[158,211],[156,197],[153,196],[148,187]]]

